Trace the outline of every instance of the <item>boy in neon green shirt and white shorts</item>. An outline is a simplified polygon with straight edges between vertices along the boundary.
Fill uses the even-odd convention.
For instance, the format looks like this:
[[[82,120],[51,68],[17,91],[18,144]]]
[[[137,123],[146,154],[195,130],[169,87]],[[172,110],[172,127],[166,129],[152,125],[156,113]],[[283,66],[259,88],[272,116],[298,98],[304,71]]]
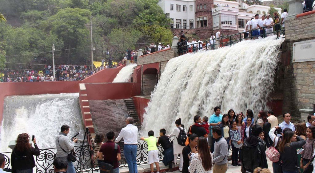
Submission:
[[[157,167],[157,173],[160,173],[160,166],[158,165],[160,160],[158,158],[157,138],[154,137],[154,132],[152,130],[148,132],[148,136],[149,138],[141,137],[140,139],[148,143],[148,160],[151,173],[153,173],[153,163],[155,163],[155,166]]]

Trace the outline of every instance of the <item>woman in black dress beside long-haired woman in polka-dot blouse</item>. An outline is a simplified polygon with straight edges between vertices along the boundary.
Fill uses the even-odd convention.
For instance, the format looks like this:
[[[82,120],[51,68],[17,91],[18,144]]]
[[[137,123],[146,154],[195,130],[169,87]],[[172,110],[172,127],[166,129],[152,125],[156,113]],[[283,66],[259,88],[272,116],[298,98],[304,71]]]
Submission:
[[[188,171],[189,154],[190,152],[195,153],[195,151],[197,150],[196,146],[197,146],[197,141],[198,141],[198,135],[196,135],[195,133],[192,133],[192,134],[188,134],[187,136],[188,136],[189,144],[183,148],[183,152],[182,152],[183,159],[184,159],[182,173],[189,172]]]

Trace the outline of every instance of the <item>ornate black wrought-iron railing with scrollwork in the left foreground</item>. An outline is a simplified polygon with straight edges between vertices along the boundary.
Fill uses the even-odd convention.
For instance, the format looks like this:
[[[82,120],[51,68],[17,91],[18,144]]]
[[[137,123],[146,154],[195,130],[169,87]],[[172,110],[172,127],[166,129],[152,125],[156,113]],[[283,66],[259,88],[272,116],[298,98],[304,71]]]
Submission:
[[[127,167],[128,165],[123,154],[123,142],[119,142],[118,145],[120,146],[120,152],[121,152],[121,160],[119,161],[119,167]],[[93,150],[90,151],[88,147],[91,147],[91,145],[75,146],[74,148],[74,152],[77,157],[77,161],[74,162],[74,166],[77,172],[90,172],[92,170],[93,171],[99,170],[97,163],[93,162],[91,164],[91,157],[93,156]],[[147,149],[148,149],[148,144],[146,143],[146,141],[138,140],[138,143],[137,143],[137,164],[138,165],[148,163]],[[163,148],[161,146],[158,146],[157,149],[159,150],[159,159],[162,160]],[[81,151],[83,153],[81,153]],[[5,157],[4,168],[9,168],[9,169],[11,168],[11,164],[10,164],[11,153],[12,152],[0,153],[0,154],[3,154]],[[35,159],[36,173],[53,173],[54,172],[54,168],[52,164],[54,161],[55,153],[56,153],[56,148],[40,149],[40,154],[36,156],[36,159]],[[81,154],[81,159],[80,159],[80,163],[78,163],[80,154]],[[93,165],[93,168],[91,165]]]

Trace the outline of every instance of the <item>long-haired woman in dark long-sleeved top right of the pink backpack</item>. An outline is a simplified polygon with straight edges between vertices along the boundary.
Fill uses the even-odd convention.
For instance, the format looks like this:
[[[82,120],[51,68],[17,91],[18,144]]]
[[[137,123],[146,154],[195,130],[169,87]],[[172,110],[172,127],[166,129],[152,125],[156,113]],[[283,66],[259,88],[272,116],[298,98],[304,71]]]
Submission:
[[[299,136],[296,136],[293,131],[285,131],[281,139],[278,150],[280,158],[283,162],[283,173],[298,173],[300,164],[297,159],[296,149],[302,147],[306,141]]]

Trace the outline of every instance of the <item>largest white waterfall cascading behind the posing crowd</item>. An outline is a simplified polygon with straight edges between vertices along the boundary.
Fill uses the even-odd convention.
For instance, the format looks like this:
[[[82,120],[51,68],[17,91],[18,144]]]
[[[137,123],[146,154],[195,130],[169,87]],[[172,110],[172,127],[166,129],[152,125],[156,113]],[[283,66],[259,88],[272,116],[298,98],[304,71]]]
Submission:
[[[269,36],[171,59],[145,109],[142,134],[170,133],[178,118],[187,129],[193,116],[209,117],[215,106],[221,114],[266,110],[283,41]]]

